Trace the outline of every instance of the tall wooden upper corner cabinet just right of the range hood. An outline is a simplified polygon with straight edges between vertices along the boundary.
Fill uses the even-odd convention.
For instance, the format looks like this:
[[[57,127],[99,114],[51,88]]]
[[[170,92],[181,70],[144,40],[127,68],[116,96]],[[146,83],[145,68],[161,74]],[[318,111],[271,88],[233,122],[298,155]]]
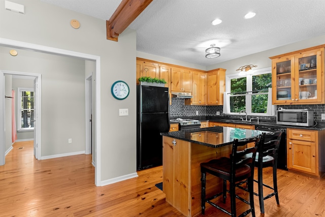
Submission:
[[[206,105],[207,103],[207,73],[192,72],[192,99],[185,99],[185,105]]]

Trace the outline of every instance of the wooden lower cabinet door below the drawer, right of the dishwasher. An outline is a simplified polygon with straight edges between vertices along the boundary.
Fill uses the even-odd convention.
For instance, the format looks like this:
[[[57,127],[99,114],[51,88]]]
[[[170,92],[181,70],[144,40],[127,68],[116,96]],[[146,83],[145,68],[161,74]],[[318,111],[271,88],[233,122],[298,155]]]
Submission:
[[[316,173],[315,143],[294,139],[289,139],[288,143],[288,167]]]

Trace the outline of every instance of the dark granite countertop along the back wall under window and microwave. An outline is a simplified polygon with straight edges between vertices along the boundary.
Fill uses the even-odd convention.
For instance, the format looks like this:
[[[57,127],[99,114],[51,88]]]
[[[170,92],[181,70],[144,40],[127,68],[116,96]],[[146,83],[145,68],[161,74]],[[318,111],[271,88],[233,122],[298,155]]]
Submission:
[[[291,125],[277,125],[276,122],[268,122],[265,119],[260,119],[257,121],[241,121],[240,119],[225,119],[220,118],[218,116],[189,116],[189,117],[182,117],[182,118],[188,118],[188,119],[196,119],[200,121],[216,121],[216,122],[225,122],[225,123],[238,123],[243,125],[254,125],[256,126],[270,126],[270,127],[277,127],[277,128],[293,128],[293,129],[302,129],[302,130],[325,130],[325,123],[320,122],[317,123],[315,126],[310,127],[301,127],[301,126],[291,126]],[[172,118],[171,118],[172,119]],[[175,118],[173,118],[175,119]]]

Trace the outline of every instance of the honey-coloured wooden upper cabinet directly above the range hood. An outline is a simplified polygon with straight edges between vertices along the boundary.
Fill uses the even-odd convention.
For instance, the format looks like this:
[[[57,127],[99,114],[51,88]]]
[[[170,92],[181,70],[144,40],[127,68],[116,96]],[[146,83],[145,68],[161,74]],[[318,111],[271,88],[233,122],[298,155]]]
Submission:
[[[191,92],[192,72],[186,68],[172,67],[171,90],[177,92]]]

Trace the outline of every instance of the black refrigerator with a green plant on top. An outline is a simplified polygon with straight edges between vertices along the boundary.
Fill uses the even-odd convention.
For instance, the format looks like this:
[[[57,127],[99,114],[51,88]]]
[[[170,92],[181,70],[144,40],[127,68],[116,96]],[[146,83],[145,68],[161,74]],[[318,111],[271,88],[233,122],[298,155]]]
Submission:
[[[163,137],[168,132],[168,87],[137,85],[137,170],[163,165]]]

